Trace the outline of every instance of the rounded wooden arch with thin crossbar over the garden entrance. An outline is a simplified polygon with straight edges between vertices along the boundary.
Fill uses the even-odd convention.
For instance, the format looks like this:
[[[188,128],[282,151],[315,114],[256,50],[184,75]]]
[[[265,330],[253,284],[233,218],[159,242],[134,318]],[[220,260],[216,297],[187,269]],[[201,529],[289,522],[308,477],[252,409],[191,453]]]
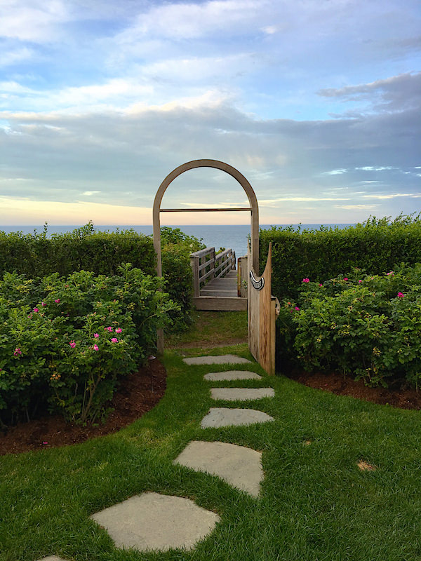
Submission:
[[[169,184],[175,180],[185,171],[193,170],[194,168],[216,168],[217,170],[222,170],[234,177],[235,180],[239,182],[250,203],[249,208],[161,208],[161,201],[163,194],[168,188]],[[153,208],[153,224],[154,224],[154,248],[156,252],[156,273],[158,276],[162,276],[162,262],[161,262],[161,221],[159,219],[160,212],[223,212],[223,211],[238,211],[238,210],[250,210],[251,217],[251,255],[253,259],[253,269],[259,271],[259,206],[258,199],[255,196],[253,187],[246,180],[239,170],[233,168],[232,165],[228,163],[221,162],[219,160],[193,160],[191,162],[183,163],[175,168],[171,173],[169,173],[159,186],[158,191],[156,191],[154,199]]]

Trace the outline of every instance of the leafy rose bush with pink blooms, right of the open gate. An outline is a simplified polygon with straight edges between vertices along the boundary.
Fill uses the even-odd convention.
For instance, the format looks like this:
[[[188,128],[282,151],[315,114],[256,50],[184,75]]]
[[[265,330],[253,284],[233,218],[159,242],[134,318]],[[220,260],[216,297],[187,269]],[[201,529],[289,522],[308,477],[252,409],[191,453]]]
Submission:
[[[297,302],[283,300],[277,344],[294,349],[308,370],[339,370],[373,386],[406,379],[417,387],[420,279],[421,264],[375,276],[353,269],[324,283],[306,278]]]

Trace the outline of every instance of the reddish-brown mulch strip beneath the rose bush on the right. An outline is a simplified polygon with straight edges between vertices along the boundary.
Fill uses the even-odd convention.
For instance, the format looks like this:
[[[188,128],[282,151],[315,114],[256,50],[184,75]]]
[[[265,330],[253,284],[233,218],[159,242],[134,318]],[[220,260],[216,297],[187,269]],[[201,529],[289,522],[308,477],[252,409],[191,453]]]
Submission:
[[[408,388],[404,383],[395,382],[393,385],[389,384],[389,388],[369,388],[363,380],[355,381],[342,374],[291,371],[286,375],[309,388],[330,391],[337,396],[351,396],[400,409],[421,409],[421,391]]]

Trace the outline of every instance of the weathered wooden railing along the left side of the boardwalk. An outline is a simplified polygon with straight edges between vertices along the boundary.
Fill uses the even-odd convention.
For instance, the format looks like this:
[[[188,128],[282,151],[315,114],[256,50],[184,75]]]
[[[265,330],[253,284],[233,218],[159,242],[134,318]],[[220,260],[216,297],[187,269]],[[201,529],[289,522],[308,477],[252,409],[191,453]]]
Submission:
[[[215,248],[205,248],[190,254],[193,271],[193,295],[200,296],[200,288],[210,278],[220,278],[235,269],[235,251],[228,249],[215,255]]]

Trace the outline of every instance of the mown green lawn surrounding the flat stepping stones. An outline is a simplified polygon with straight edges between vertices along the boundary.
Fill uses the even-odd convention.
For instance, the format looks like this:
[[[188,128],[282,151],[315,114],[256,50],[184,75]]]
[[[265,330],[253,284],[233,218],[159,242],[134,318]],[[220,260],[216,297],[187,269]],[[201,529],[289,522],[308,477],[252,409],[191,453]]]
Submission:
[[[250,358],[247,346],[212,349]],[[208,353],[208,351],[206,351]],[[417,561],[421,559],[420,412],[393,409],[301,386],[281,375],[210,384],[167,351],[166,395],[131,426],[82,445],[0,458],[0,561],[60,555],[74,561]],[[208,428],[210,386],[273,386],[275,398],[248,402],[267,424]],[[218,405],[241,407],[242,403]],[[259,499],[219,478],[174,466],[191,440],[262,451]],[[306,442],[310,442],[307,444]],[[361,471],[366,461],[375,471]],[[186,553],[114,548],[89,516],[145,491],[194,499],[221,521]]]

